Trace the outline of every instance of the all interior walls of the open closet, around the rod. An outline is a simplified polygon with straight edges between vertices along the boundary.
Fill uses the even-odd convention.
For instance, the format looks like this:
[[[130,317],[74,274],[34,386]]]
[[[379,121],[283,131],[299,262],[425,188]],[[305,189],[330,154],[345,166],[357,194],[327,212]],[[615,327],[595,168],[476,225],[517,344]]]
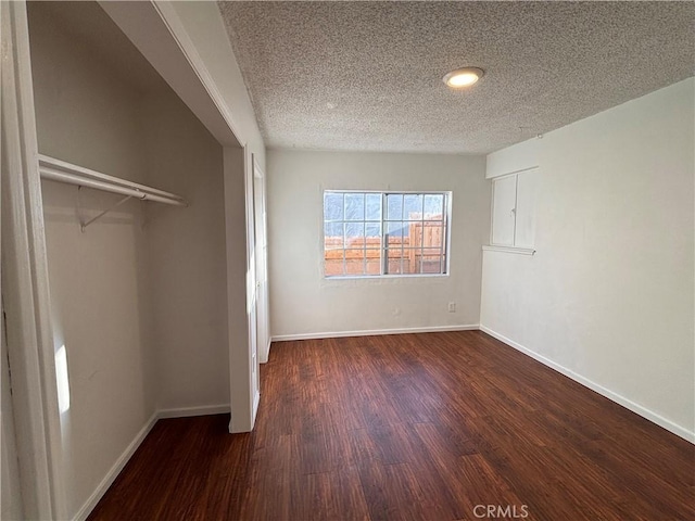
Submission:
[[[131,200],[83,233],[119,195],[42,182],[73,517],[156,411],[228,406],[223,151],[98,4],[27,9],[39,152],[191,204]]]

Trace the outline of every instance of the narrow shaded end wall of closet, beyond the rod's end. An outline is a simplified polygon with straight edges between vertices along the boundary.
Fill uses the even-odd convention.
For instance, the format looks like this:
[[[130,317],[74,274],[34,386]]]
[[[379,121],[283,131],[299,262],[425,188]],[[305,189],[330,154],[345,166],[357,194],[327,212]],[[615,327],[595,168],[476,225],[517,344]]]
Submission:
[[[190,203],[148,204],[156,406],[228,407],[223,149],[170,90],[144,98],[141,115],[148,183]]]

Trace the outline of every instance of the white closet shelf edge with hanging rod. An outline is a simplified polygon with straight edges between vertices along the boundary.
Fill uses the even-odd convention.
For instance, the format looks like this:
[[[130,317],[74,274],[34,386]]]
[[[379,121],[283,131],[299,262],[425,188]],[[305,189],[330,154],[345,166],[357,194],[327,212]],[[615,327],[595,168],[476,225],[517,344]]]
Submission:
[[[131,195],[142,201],[154,201],[175,206],[188,206],[186,200],[174,193],[108,176],[47,155],[39,154],[39,171],[42,179],[93,188],[96,190],[119,193],[122,195]]]

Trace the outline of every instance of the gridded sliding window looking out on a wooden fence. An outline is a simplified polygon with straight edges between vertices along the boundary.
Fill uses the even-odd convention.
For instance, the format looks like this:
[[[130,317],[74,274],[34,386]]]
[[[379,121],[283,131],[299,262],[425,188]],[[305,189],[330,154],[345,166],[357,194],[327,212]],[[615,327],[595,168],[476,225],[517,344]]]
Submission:
[[[447,272],[448,192],[324,192],[324,275]]]

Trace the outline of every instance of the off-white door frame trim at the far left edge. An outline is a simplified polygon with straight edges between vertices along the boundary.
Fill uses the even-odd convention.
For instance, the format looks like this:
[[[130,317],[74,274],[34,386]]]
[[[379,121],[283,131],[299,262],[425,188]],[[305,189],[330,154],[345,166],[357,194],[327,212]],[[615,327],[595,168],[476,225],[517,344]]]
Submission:
[[[24,0],[0,2],[2,294],[20,486],[27,519],[65,519],[43,204]]]

